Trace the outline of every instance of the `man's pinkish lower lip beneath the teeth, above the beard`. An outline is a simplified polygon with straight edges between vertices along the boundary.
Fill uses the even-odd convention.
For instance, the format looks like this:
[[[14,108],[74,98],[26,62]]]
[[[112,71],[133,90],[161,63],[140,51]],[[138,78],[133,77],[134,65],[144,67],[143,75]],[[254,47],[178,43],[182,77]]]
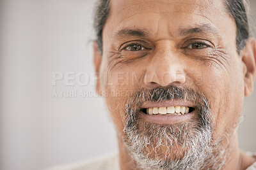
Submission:
[[[144,120],[147,120],[147,122],[156,124],[179,124],[180,122],[190,120],[195,115],[195,110],[184,115],[148,115],[143,111],[140,111],[139,115]]]

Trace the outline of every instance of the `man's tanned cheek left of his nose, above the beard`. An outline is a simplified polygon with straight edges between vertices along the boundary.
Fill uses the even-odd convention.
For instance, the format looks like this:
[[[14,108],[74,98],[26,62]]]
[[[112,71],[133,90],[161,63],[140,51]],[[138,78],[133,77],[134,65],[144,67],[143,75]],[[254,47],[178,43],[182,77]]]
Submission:
[[[125,104],[134,91],[141,87],[143,71],[134,67],[120,67],[104,75],[104,96],[111,119],[118,132],[123,133]],[[107,82],[107,83],[106,83]]]

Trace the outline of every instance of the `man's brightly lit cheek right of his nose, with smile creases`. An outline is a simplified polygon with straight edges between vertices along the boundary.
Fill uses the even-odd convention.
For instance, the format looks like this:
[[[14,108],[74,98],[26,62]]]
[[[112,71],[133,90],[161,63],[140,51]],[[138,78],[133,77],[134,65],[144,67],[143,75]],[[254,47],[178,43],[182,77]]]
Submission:
[[[221,138],[223,133],[234,131],[241,117],[244,99],[243,71],[237,60],[230,60],[230,66],[226,69],[211,67],[204,68],[202,72],[201,90],[209,99],[216,124],[214,138]]]

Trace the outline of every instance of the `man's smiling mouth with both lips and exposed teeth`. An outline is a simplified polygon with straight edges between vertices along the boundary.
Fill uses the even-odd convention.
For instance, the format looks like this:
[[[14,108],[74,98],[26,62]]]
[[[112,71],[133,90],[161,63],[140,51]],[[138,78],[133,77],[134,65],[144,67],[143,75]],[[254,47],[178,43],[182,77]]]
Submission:
[[[157,124],[177,124],[191,119],[195,111],[195,106],[186,102],[147,103],[143,104],[140,117]]]

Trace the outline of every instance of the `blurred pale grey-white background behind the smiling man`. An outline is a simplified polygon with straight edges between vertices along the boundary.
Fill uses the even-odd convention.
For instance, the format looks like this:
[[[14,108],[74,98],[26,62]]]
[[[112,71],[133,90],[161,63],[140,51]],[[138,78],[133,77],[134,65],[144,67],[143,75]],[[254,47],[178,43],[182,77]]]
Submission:
[[[1,170],[43,169],[117,150],[114,125],[95,94],[94,3],[0,1]],[[256,1],[250,7],[255,20]],[[251,152],[255,110],[256,92],[246,98],[239,128],[239,145]]]

